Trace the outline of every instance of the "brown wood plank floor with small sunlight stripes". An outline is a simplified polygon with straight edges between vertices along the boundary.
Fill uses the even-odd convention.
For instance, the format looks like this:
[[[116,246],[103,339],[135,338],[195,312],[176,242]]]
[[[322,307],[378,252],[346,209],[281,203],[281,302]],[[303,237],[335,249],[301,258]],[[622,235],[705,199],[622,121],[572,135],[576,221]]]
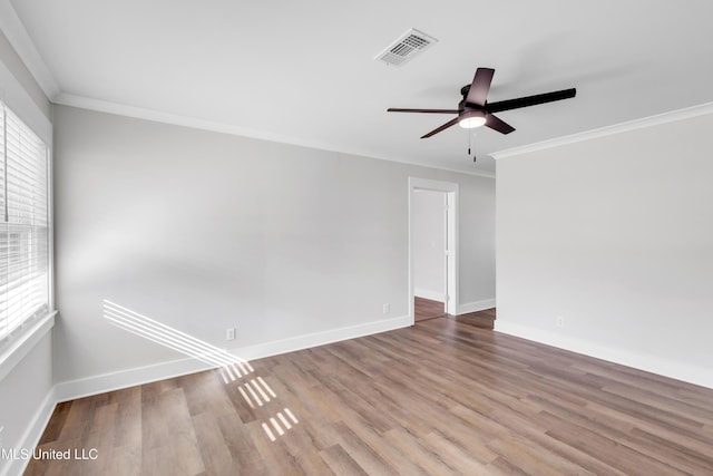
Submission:
[[[713,390],[438,318],[61,404],[28,475],[711,475]],[[244,375],[243,375],[244,373]]]

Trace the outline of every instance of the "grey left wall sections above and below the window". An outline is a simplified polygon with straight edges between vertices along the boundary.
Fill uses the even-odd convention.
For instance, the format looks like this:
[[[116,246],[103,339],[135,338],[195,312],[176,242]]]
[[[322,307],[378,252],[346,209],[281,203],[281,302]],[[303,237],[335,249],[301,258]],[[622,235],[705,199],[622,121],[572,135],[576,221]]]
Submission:
[[[0,99],[46,143],[51,144],[51,106],[4,35],[0,32]],[[0,343],[0,447],[32,448],[53,409],[51,320]],[[14,349],[12,349],[14,348]],[[14,474],[23,460],[0,459],[0,475]]]

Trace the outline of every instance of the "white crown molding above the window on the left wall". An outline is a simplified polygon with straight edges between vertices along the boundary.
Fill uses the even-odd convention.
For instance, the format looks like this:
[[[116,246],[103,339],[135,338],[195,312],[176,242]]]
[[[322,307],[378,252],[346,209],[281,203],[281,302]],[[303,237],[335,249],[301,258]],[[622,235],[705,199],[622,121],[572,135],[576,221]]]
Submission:
[[[8,38],[27,69],[35,77],[35,80],[40,85],[45,95],[50,101],[53,100],[60,93],[59,85],[37,51],[10,0],[0,0],[0,30]]]

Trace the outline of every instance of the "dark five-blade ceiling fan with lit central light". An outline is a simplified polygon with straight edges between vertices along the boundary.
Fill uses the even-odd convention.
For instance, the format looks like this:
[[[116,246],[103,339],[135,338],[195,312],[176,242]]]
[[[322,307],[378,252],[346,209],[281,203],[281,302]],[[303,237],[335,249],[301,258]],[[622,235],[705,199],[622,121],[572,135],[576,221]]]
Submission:
[[[563,89],[559,91],[544,93],[534,96],[520,97],[517,99],[499,100],[496,103],[488,103],[488,91],[490,90],[490,82],[492,81],[492,75],[495,69],[491,68],[478,68],[476,76],[472,78],[470,85],[463,86],[460,89],[462,100],[458,103],[458,109],[401,109],[390,107],[387,109],[389,113],[429,113],[429,114],[457,114],[458,116],[440,127],[431,130],[430,133],[421,136],[422,139],[431,137],[458,124],[460,127],[471,129],[473,127],[487,126],[494,130],[502,134],[510,134],[515,130],[515,127],[510,126],[494,113],[500,113],[502,110],[518,109],[520,107],[535,106],[538,104],[551,103],[555,100],[568,99],[575,97],[577,89]]]

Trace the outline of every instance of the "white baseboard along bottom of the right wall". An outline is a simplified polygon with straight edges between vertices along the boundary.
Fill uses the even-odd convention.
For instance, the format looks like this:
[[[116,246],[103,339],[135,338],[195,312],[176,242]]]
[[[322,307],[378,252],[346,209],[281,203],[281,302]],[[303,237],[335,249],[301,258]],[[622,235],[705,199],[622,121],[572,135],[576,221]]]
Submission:
[[[613,363],[632,367],[646,372],[656,373],[688,383],[700,385],[713,389],[713,373],[711,369],[684,365],[662,359],[657,356],[614,349],[583,339],[573,338],[557,332],[535,329],[501,320],[495,321],[495,330],[509,336],[531,340],[534,342],[557,347],[572,352],[582,353]]]

